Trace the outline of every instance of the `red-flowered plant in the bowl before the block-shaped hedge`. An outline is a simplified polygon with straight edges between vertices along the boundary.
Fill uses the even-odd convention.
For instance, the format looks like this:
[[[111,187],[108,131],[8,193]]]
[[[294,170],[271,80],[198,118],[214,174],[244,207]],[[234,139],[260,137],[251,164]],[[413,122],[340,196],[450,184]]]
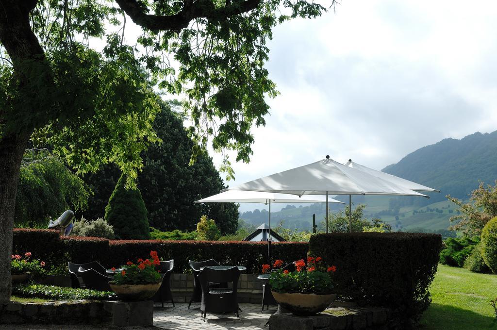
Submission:
[[[325,265],[321,257],[307,257],[294,262],[295,271],[272,271],[269,275],[271,290],[279,293],[329,294],[334,288],[333,273],[335,266]],[[281,267],[282,260],[276,260],[273,267]],[[263,265],[262,271],[265,272]],[[269,267],[266,267],[269,268]]]

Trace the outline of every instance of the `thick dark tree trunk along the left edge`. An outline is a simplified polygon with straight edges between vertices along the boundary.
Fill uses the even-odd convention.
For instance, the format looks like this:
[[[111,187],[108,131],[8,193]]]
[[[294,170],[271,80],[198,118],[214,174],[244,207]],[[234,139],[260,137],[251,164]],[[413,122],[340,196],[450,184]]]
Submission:
[[[32,79],[36,81],[37,78],[30,77],[36,73],[25,71],[26,61],[38,61],[48,67],[43,49],[29,25],[29,12],[37,2],[38,0],[0,0],[0,42],[12,61],[19,88],[24,91],[29,90]],[[49,73],[49,70],[46,72]],[[31,87],[31,92],[35,94],[36,86]],[[29,98],[32,95],[25,96]],[[0,303],[10,300],[10,261],[17,181],[24,148],[35,126],[35,123],[23,122],[22,113],[4,117],[7,112],[15,113],[15,107],[9,105],[0,109]],[[28,113],[39,111],[36,104],[25,110]]]

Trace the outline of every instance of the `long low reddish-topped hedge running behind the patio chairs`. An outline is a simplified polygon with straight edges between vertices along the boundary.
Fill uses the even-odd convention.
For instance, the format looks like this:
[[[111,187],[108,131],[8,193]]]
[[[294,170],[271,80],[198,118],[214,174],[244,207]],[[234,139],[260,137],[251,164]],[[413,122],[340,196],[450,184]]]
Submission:
[[[216,259],[221,264],[243,265],[247,274],[259,274],[266,263],[267,243],[229,241],[109,241],[96,237],[63,237],[47,230],[14,229],[13,250],[31,251],[33,256],[47,262],[50,272],[67,274],[67,262],[84,263],[92,260],[110,268],[128,260],[146,258],[156,250],[164,260],[174,259],[174,272],[190,272],[188,260]],[[273,260],[292,262],[304,258],[309,249],[306,242],[271,244]],[[54,272],[52,272],[54,273]]]

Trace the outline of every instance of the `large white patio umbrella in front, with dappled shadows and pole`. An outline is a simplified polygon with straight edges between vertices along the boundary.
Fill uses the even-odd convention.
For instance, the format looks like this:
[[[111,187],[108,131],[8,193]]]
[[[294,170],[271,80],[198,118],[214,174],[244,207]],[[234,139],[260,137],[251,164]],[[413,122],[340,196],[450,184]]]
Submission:
[[[264,176],[226,190],[249,190],[303,195],[404,195],[422,196],[419,192],[397,185],[364,171],[330,159]],[[350,213],[351,215],[351,213]],[[329,210],[326,205],[326,232]],[[351,229],[351,228],[350,228]]]

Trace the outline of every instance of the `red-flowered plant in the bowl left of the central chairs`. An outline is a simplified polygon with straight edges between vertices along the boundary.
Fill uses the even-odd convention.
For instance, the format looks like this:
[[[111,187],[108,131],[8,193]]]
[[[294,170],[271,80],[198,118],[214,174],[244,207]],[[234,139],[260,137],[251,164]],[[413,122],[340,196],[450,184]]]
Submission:
[[[126,262],[126,266],[119,268],[114,274],[114,284],[150,284],[161,282],[161,274],[156,266],[161,264],[157,251],[150,251],[150,259],[138,259],[136,263]],[[112,270],[116,268],[113,267]]]

